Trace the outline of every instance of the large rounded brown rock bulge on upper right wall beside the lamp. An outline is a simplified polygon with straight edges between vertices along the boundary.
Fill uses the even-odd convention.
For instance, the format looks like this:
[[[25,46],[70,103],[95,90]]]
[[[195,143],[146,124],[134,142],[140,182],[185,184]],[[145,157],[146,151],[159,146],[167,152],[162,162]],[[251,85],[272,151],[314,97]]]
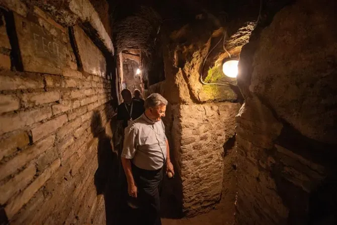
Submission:
[[[337,143],[337,131],[326,129],[337,115],[336,109],[326,110],[336,103],[337,95],[337,28],[335,15],[328,10],[334,6],[308,3],[305,8],[294,6],[278,13],[261,33],[249,86],[303,135],[331,143]],[[296,26],[295,16],[289,14],[296,15]],[[279,35],[271,35],[276,32]]]

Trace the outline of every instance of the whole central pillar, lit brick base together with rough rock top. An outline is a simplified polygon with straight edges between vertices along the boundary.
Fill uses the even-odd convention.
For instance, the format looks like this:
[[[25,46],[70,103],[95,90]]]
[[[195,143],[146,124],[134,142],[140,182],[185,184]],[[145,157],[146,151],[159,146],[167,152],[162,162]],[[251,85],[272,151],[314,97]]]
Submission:
[[[238,28],[237,24],[231,34]],[[240,36],[242,40],[249,37],[250,29],[247,30],[249,32]],[[203,60],[223,31],[223,28],[214,28],[210,21],[194,22],[176,31],[161,27],[165,80],[148,89],[148,94],[160,93],[170,103],[163,121],[171,140],[176,179],[181,183],[167,181],[166,185],[174,190],[168,190],[168,195],[175,199],[175,207],[181,208],[187,216],[205,212],[224,198],[226,209],[234,210],[235,151],[232,146],[227,148],[226,143],[230,138],[235,143],[240,93],[235,84],[207,86],[200,83]],[[182,44],[181,40],[187,41]],[[207,67],[213,66],[220,56],[223,59],[223,55],[222,45],[216,46]],[[224,77],[222,71],[221,76]]]

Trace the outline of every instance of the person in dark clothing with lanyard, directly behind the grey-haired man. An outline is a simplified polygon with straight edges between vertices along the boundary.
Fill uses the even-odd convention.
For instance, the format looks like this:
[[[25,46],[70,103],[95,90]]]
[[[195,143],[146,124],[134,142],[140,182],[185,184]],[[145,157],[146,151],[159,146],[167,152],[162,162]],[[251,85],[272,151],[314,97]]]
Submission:
[[[123,129],[126,128],[132,120],[137,119],[144,112],[144,106],[140,101],[132,99],[129,89],[121,92],[123,103],[117,108],[117,120],[122,121]]]

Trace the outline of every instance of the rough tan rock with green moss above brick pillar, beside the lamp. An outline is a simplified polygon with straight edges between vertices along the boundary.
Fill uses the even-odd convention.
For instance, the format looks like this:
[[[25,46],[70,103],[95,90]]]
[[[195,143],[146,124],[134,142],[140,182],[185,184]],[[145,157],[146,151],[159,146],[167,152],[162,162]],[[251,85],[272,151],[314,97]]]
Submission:
[[[242,26],[247,25],[242,24]],[[204,77],[207,77],[207,74],[211,71],[210,69],[219,66],[222,68],[222,61],[225,57],[227,57],[227,53],[224,52],[222,45],[216,45],[220,38],[222,38],[221,32],[223,32],[223,28],[219,28],[218,30],[220,30],[220,35],[216,35],[214,37],[212,37],[212,33],[217,32],[218,30],[214,31],[212,28],[214,29],[214,27],[212,27],[212,21],[204,21],[202,24],[198,24],[198,22],[193,25],[188,24],[171,32],[170,34],[162,35],[164,42],[168,43],[163,47],[164,68],[166,74],[165,83],[170,83],[170,88],[177,87],[179,89],[178,93],[180,96],[178,99],[174,99],[175,101],[191,102],[192,100],[193,102],[233,102],[237,101],[240,97],[235,81],[227,79],[224,76],[222,69],[219,71],[217,70],[215,76],[216,79],[211,80],[211,82],[205,81]],[[238,45],[236,46],[241,49],[241,46],[246,43],[249,38],[250,30],[246,27],[238,28],[248,30],[248,32],[240,36],[241,41],[238,42]],[[197,39],[195,38],[196,36],[198,37]],[[182,44],[180,43],[181,40],[189,41]],[[211,49],[213,49],[213,51],[207,57],[203,71],[201,71],[204,60]],[[234,51],[232,46],[229,46],[228,50]],[[237,55],[239,50],[235,51]],[[219,83],[222,84],[222,86],[203,85],[200,82],[201,73],[203,74],[203,80],[205,83]]]

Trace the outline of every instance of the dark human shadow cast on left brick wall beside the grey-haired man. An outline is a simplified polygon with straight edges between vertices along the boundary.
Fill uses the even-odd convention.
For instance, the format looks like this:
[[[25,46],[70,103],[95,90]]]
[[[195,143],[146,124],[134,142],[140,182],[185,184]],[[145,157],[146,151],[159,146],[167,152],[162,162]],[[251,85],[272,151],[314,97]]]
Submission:
[[[117,224],[119,215],[118,158],[113,152],[111,138],[103,127],[99,111],[93,113],[91,131],[94,137],[99,139],[97,147],[98,169],[94,177],[97,195],[104,195],[106,224]]]

